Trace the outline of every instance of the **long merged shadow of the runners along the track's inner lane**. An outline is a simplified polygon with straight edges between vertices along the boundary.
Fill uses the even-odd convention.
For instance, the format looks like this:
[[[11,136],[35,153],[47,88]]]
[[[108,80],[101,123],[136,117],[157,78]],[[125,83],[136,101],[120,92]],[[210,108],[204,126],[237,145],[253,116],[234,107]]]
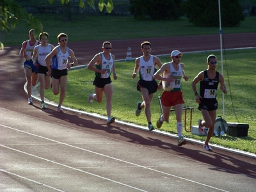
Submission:
[[[40,109],[34,105],[35,108]],[[150,148],[161,149],[168,153],[177,152],[179,156],[184,156],[186,158],[194,159],[195,161],[199,161],[206,164],[211,164],[214,168],[212,170],[227,172],[232,174],[244,173],[248,175],[248,177],[256,178],[256,168],[255,164],[248,163],[246,161],[237,159],[236,157],[232,157],[234,154],[223,155],[223,153],[219,153],[217,149],[214,149],[213,152],[207,152],[205,150],[194,150],[186,147],[177,147],[177,144],[172,144],[168,142],[162,141],[158,137],[163,137],[159,134],[155,134],[152,132],[152,137],[148,137],[148,133],[143,130],[136,130],[134,133],[134,128],[124,127],[121,128],[118,124],[107,125],[106,122],[102,122],[103,120],[95,118],[95,120],[88,120],[86,115],[79,115],[77,113],[73,113],[70,111],[64,111],[64,113],[59,113],[53,109],[44,109],[42,110],[45,113],[49,114],[50,118],[57,118],[60,120],[65,120],[67,125],[70,127],[74,127],[77,125],[78,129],[81,131],[86,131],[88,129],[92,129],[95,132],[106,132],[106,136],[109,138],[114,138],[116,140],[125,140],[129,143],[136,143],[139,145],[148,146]],[[74,127],[77,129],[77,127]],[[176,141],[175,141],[176,142]],[[196,145],[193,143],[189,143],[189,145]],[[186,145],[188,146],[188,145]],[[196,145],[197,147],[198,145]],[[216,152],[217,151],[217,152]]]

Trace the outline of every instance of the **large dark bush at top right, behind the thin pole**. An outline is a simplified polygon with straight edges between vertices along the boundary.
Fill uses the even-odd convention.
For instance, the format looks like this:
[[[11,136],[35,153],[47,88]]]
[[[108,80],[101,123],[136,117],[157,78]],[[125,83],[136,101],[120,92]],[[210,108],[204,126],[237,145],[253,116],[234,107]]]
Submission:
[[[183,5],[189,22],[192,22],[195,26],[220,26],[218,1],[188,0]],[[221,0],[220,10],[221,26],[223,27],[239,26],[245,18],[239,0]]]

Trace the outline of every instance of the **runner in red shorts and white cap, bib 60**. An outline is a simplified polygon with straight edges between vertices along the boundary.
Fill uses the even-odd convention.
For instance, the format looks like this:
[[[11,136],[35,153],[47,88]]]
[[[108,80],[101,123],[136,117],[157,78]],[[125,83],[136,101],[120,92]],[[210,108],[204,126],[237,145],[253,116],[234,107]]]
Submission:
[[[181,91],[182,77],[188,81],[188,77],[184,73],[184,63],[180,63],[182,53],[178,50],[172,51],[172,62],[164,63],[164,65],[154,74],[154,79],[159,79],[163,83],[164,91],[161,95],[163,104],[163,114],[157,120],[157,128],[160,128],[163,122],[169,121],[170,109],[173,107],[177,120],[177,132],[179,136],[178,146],[185,145],[187,142],[182,137],[182,112],[183,112],[183,96]],[[161,76],[163,74],[163,76]]]

